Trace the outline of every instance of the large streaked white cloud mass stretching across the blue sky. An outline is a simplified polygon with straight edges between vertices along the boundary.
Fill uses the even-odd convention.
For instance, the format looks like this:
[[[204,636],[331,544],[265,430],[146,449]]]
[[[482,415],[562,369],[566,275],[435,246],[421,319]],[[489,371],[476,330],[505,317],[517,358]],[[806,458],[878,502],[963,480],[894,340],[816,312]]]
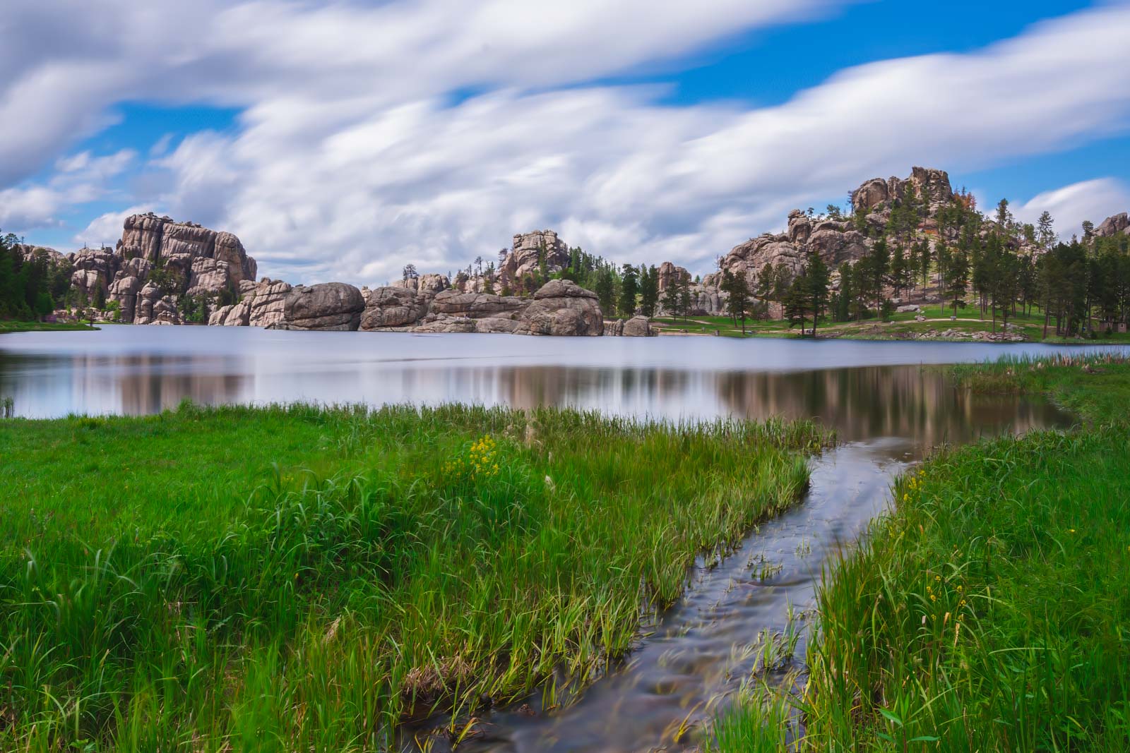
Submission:
[[[447,271],[534,227],[620,261],[705,272],[790,208],[868,176],[974,169],[1125,129],[1130,116],[1125,5],[967,54],[849,69],[741,111],[577,85],[834,3],[107,0],[61,16],[61,1],[16,3],[19,25],[70,26],[49,62],[35,64],[34,49],[0,52],[0,115],[28,113],[0,117],[20,122],[12,139],[0,125],[0,181],[123,98],[241,107],[235,132],[158,150],[164,183],[134,203],[229,229],[264,273],[294,281],[380,282],[408,261]],[[108,28],[129,33],[95,44]],[[469,87],[485,93],[451,106]]]

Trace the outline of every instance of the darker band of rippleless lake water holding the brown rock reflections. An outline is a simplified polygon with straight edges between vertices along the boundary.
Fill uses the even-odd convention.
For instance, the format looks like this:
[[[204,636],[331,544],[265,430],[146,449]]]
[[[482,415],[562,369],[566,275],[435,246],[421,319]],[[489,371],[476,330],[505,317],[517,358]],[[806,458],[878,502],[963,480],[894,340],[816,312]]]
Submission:
[[[293,370],[289,366],[294,366]],[[816,418],[845,440],[895,436],[931,445],[1062,417],[1041,401],[971,395],[939,369],[864,366],[766,371],[671,366],[476,365],[357,360],[319,366],[255,354],[0,352],[0,394],[19,415],[154,413],[201,404],[475,402],[560,405],[671,420]]]

